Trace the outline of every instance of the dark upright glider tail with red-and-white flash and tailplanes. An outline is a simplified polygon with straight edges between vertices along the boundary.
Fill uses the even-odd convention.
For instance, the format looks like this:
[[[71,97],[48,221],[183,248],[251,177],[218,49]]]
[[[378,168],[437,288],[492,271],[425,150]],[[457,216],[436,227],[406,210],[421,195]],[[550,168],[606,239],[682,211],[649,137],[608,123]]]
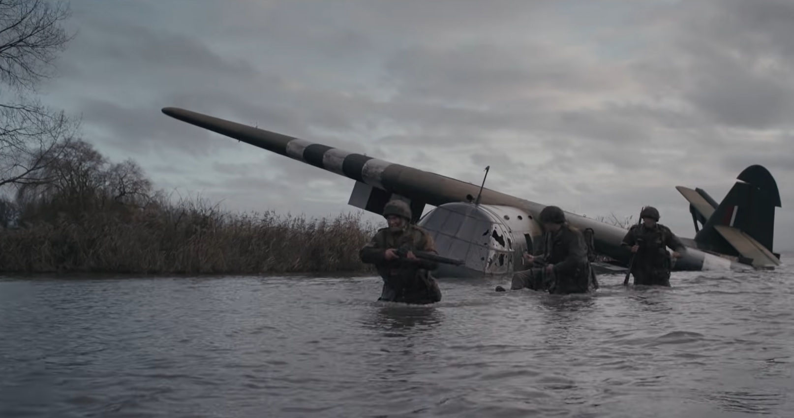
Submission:
[[[765,167],[759,165],[747,167],[737,178],[739,181],[713,213],[703,217],[705,223],[703,229],[697,232],[695,242],[698,247],[736,255],[757,267],[777,266],[780,264],[780,255],[772,252],[775,208],[781,207],[777,182]],[[698,193],[701,199],[696,199],[689,190],[679,188],[691,205],[697,209],[706,208],[706,205],[713,207],[707,201],[707,195],[703,196],[705,192]],[[708,200],[713,201],[710,197]],[[707,209],[703,212],[707,212]]]

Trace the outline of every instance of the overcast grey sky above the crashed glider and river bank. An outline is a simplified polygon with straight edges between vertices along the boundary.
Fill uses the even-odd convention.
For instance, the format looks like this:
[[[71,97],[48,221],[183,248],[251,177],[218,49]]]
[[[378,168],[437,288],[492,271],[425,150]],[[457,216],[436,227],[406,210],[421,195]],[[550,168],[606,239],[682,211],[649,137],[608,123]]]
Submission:
[[[167,190],[229,209],[357,211],[353,180],[160,113],[178,106],[480,184],[589,217],[675,186],[721,201],[777,178],[794,248],[789,0],[73,0],[46,99]],[[376,216],[370,217],[378,219]],[[382,218],[380,218],[382,219]]]

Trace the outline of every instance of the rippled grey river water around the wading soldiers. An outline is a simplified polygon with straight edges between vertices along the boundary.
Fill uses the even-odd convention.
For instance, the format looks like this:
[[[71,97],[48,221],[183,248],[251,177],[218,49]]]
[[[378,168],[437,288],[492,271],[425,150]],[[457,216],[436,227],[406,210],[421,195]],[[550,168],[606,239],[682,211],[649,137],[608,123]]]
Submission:
[[[0,416],[794,416],[794,268],[600,281],[2,278]]]

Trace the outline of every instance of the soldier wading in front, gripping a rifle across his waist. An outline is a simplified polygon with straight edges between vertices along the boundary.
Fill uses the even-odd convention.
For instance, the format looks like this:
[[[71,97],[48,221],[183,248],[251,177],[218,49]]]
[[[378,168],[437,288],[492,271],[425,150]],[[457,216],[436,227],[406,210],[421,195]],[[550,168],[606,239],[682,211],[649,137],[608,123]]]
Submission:
[[[379,301],[426,305],[441,301],[441,290],[430,274],[438,264],[418,259],[412,252],[436,252],[433,237],[424,229],[410,224],[410,206],[404,201],[392,200],[384,207],[387,228],[381,228],[369,244],[361,248],[359,257],[364,263],[375,264],[384,288]],[[396,251],[405,251],[399,257]]]

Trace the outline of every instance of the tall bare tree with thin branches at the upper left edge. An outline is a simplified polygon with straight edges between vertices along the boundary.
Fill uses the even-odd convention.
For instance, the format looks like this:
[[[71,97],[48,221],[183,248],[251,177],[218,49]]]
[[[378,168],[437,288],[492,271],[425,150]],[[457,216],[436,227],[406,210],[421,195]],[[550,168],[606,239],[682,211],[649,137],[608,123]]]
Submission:
[[[79,128],[79,121],[31,98],[74,37],[60,25],[70,15],[64,2],[0,0],[0,186],[46,182],[37,174]]]

